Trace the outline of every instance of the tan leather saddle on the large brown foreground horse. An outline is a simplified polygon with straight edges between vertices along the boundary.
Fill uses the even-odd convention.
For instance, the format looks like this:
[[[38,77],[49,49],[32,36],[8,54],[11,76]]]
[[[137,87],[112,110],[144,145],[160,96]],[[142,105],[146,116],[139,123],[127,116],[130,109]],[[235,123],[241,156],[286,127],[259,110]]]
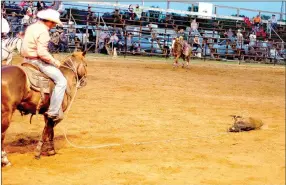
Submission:
[[[38,67],[30,64],[30,63],[22,63],[22,69],[28,76],[28,79],[31,84],[31,88],[43,92],[43,93],[50,93],[50,82],[51,79],[46,76],[44,73],[40,72]]]

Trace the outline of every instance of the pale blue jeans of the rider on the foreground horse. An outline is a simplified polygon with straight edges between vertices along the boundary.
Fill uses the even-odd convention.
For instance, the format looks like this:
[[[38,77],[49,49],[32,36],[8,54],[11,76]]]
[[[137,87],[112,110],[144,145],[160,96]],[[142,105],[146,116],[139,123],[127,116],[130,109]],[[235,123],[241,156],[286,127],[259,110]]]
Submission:
[[[45,75],[55,82],[56,85],[52,92],[50,107],[47,113],[52,116],[58,116],[67,88],[66,78],[58,68],[51,64],[47,64],[41,60],[25,60],[38,66]]]

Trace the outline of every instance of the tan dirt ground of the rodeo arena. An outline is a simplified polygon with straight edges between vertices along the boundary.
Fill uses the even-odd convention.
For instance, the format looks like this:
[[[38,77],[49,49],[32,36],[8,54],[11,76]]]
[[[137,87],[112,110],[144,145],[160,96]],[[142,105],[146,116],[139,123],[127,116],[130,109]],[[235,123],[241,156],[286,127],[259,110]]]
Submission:
[[[17,112],[2,184],[285,184],[283,66],[88,56],[88,85],[55,130],[57,155],[34,159],[42,118]],[[268,129],[227,133],[230,114]],[[121,144],[103,148],[103,144]]]

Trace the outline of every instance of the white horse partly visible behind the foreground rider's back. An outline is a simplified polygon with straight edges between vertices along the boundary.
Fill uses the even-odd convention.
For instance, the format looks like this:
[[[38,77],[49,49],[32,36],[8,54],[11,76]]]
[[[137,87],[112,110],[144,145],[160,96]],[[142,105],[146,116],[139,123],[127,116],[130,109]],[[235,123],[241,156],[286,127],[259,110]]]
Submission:
[[[5,40],[2,40],[2,55],[1,62],[5,61],[4,65],[11,65],[13,58],[13,51],[17,48],[18,53],[21,54],[22,47],[22,38],[20,37],[11,37]]]

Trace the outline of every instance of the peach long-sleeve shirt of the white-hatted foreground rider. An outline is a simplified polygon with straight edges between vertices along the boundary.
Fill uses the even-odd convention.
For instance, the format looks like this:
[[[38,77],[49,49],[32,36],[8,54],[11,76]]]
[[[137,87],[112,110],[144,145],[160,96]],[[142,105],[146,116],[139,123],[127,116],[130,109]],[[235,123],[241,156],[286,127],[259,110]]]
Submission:
[[[49,41],[49,28],[38,21],[27,28],[21,54],[27,58],[40,58],[44,62],[53,64],[56,59],[48,51]]]

